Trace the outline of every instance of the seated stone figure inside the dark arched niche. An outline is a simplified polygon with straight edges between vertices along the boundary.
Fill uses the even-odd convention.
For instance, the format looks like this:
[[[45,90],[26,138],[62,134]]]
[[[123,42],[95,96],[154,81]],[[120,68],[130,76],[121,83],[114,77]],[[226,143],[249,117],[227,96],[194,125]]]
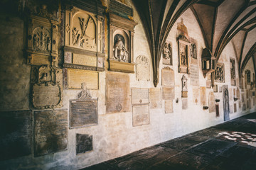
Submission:
[[[114,59],[122,62],[128,62],[128,54],[126,47],[124,46],[124,37],[120,34],[114,36]]]

